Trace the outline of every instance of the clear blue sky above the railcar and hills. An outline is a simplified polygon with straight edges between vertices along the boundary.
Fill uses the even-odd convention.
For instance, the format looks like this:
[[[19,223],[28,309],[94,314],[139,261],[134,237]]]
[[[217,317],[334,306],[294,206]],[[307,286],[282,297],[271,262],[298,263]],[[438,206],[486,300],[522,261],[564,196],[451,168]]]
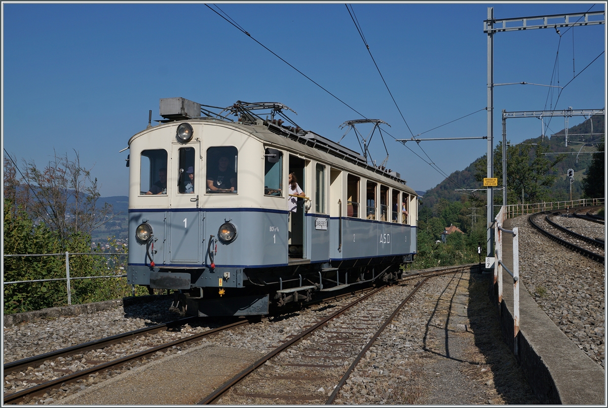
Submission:
[[[574,4],[353,4],[372,55],[407,125],[418,135],[486,107],[488,7],[495,18],[604,10]],[[412,134],[382,83],[344,4],[219,4],[264,46],[368,118],[386,121],[396,138]],[[361,118],[205,4],[2,4],[2,140],[12,157],[44,166],[53,151],[92,167],[102,196],[128,194],[129,138],[159,117],[159,98],[184,97],[229,106],[237,100],[278,101],[304,129],[332,140],[339,125]],[[556,55],[564,86],[606,49],[606,26],[499,33],[494,83],[550,84]],[[564,32],[565,29],[562,29]],[[559,45],[559,54],[558,54]],[[574,61],[573,61],[574,59]],[[573,73],[573,64],[574,70]],[[499,86],[494,92],[494,137],[500,111],[598,109],[606,105],[606,53],[562,91]],[[556,77],[553,77],[556,82]],[[569,126],[582,118],[570,119]],[[548,132],[564,127],[554,118]],[[360,127],[367,135],[371,128]],[[508,122],[517,143],[541,134],[540,121]],[[421,138],[486,135],[486,111]],[[486,140],[424,141],[407,147],[385,138],[387,167],[426,190],[486,153]],[[342,144],[359,151],[352,132]],[[424,149],[424,152],[420,149]],[[426,152],[426,154],[425,154]],[[374,136],[372,157],[385,156]],[[3,152],[4,155],[4,152]]]

